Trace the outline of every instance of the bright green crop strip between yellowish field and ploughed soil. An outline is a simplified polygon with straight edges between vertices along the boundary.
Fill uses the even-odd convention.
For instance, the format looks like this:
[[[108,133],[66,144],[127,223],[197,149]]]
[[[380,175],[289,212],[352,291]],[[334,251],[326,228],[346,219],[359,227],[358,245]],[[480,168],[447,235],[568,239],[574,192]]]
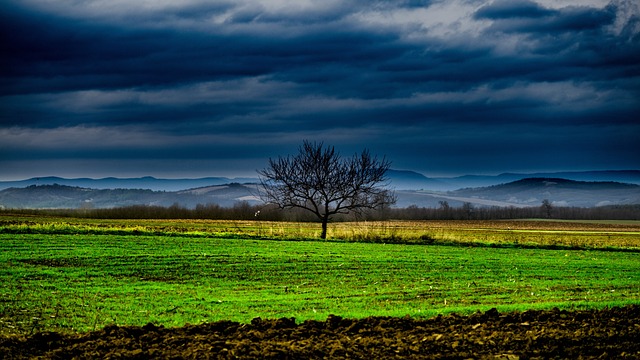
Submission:
[[[0,331],[640,302],[640,254],[193,236],[0,234]]]

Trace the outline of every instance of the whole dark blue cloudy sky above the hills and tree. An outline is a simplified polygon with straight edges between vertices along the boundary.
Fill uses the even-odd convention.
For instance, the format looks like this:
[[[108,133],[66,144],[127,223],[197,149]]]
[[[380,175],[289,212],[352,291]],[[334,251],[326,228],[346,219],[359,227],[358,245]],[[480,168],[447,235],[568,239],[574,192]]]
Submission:
[[[0,180],[640,169],[637,0],[3,0]]]

